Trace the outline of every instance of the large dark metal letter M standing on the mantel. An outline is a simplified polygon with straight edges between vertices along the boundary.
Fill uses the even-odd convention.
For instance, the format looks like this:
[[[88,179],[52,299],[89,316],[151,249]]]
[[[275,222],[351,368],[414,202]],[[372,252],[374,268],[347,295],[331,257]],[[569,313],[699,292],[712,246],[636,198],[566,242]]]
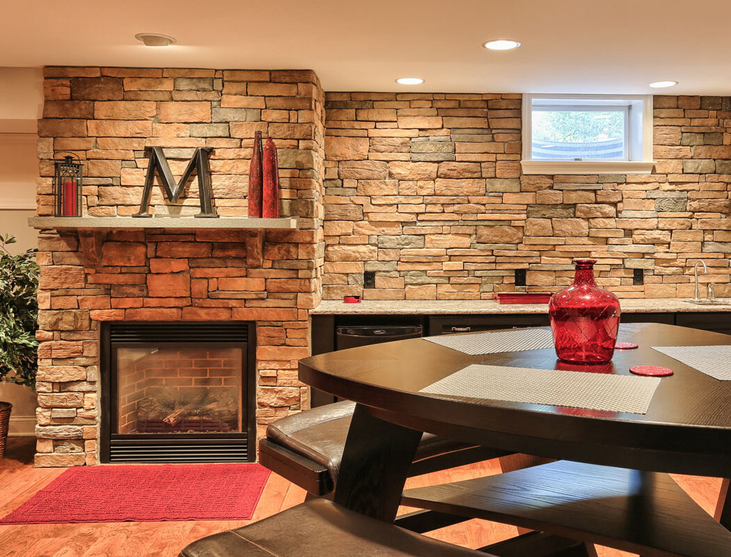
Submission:
[[[150,149],[150,162],[147,166],[147,176],[145,177],[145,190],[142,194],[142,202],[140,203],[140,211],[134,216],[152,216],[147,212],[150,205],[150,194],[152,193],[153,182],[155,181],[155,170],[160,176],[162,187],[167,194],[167,198],[175,203],[181,198],[186,189],[193,170],[198,175],[198,193],[200,195],[200,213],[195,216],[217,217],[216,211],[213,209],[213,195],[211,194],[211,169],[208,167],[208,156],[213,151],[212,147],[199,147],[195,150],[192,158],[188,162],[185,172],[181,176],[181,180],[175,183],[173,173],[170,172],[170,165],[167,164],[165,154],[162,147],[152,147]]]

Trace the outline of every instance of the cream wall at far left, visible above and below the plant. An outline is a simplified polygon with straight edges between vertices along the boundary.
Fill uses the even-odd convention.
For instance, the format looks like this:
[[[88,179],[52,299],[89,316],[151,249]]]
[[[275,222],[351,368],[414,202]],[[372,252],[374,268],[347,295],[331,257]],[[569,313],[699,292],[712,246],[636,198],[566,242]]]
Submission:
[[[11,246],[14,253],[37,246],[28,217],[35,213],[36,130],[42,107],[40,68],[0,68],[0,234],[18,238]],[[0,383],[0,400],[13,405],[10,435],[33,435],[35,393]]]

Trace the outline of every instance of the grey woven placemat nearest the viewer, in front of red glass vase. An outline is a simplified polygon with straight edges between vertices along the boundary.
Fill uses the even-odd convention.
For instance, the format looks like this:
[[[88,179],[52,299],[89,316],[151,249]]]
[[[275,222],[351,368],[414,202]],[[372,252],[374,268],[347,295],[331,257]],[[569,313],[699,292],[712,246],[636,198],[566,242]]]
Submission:
[[[420,392],[645,414],[660,381],[658,377],[473,364]]]

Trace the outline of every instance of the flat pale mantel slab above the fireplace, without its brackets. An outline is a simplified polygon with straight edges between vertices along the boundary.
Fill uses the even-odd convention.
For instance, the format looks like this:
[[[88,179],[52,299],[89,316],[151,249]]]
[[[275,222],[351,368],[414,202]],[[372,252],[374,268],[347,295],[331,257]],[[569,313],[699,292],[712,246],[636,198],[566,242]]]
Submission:
[[[55,230],[129,230],[167,228],[178,230],[266,230],[297,228],[297,219],[248,219],[243,216],[221,216],[218,219],[196,219],[193,216],[160,216],[149,219],[132,216],[31,216],[29,226]]]

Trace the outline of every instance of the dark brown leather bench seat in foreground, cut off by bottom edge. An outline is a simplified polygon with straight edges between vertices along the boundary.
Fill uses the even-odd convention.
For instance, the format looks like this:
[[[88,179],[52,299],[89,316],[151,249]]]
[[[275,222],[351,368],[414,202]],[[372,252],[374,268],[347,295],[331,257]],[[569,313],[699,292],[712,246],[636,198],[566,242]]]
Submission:
[[[490,557],[314,499],[259,522],[213,534],[180,557]]]

